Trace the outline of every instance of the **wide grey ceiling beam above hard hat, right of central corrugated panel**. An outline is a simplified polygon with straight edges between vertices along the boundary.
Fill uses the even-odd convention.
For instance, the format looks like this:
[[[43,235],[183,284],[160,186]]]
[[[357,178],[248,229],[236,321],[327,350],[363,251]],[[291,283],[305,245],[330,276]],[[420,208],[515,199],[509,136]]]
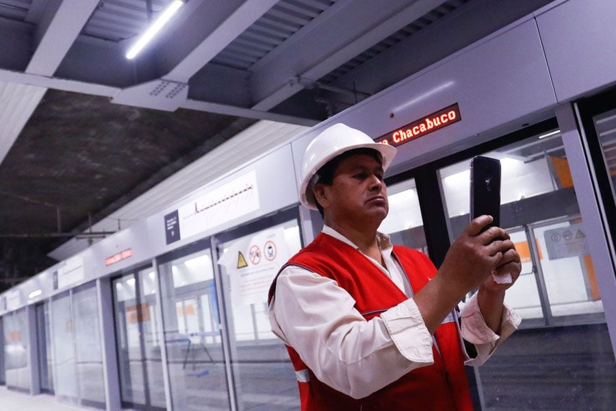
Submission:
[[[258,101],[252,108],[274,108],[303,90],[292,78],[318,80],[444,2],[365,1],[361,7],[344,0],[335,3],[318,24],[315,18],[251,68],[252,95]]]

